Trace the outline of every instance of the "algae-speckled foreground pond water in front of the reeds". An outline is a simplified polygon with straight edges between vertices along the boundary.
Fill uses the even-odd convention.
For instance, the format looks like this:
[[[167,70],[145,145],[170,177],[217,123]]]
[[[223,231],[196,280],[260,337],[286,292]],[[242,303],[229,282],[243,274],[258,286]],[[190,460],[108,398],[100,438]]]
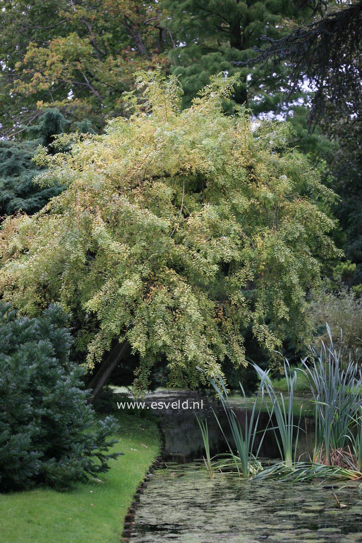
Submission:
[[[131,541],[362,541],[358,484],[334,492],[346,508],[336,507],[329,484],[250,483],[232,473],[210,481],[198,463],[169,465],[141,496]]]

